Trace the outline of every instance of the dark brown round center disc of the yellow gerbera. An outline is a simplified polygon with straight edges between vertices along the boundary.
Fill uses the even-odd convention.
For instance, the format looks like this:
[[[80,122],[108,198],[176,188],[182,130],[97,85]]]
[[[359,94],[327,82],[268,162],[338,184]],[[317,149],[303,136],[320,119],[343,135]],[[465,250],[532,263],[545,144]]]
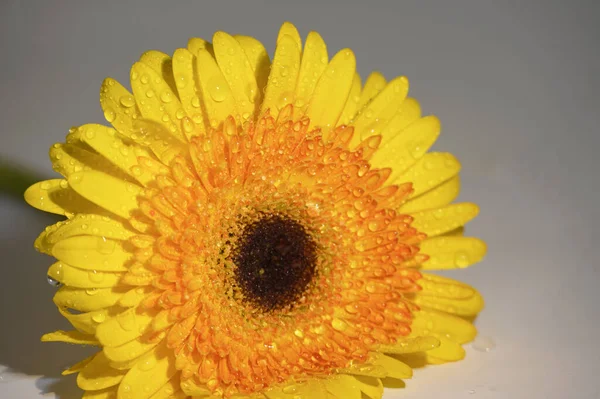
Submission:
[[[233,261],[244,298],[269,312],[302,297],[316,274],[317,248],[302,224],[265,215],[244,228]]]

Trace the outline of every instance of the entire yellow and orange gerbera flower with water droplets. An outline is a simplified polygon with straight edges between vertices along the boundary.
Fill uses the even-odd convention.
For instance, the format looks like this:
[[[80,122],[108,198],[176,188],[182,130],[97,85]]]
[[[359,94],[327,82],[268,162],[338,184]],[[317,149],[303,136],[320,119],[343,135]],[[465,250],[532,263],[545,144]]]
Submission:
[[[142,55],[133,94],[100,93],[112,127],[50,150],[64,179],[30,187],[66,216],[37,239],[73,331],[96,345],[84,398],[381,398],[382,378],[464,356],[483,306],[428,274],[479,261],[460,165],[408,81],[331,60],[281,28],[273,62],[247,36]]]

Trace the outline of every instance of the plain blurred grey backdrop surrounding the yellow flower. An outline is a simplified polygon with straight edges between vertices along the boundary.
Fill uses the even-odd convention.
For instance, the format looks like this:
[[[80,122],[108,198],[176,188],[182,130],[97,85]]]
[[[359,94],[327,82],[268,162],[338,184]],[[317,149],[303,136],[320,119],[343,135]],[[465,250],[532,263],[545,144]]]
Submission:
[[[48,147],[102,121],[100,83],[127,85],[147,49],[172,53],[216,30],[262,40],[279,25],[349,46],[364,76],[407,75],[443,124],[436,149],[463,164],[461,199],[481,205],[469,233],[485,261],[452,273],[483,292],[477,320],[495,349],[419,370],[385,398],[598,398],[600,273],[599,7],[593,1],[7,1],[0,6],[0,157],[50,175]],[[82,350],[38,342],[65,327],[31,243],[52,221],[0,197],[0,396],[57,392]]]

